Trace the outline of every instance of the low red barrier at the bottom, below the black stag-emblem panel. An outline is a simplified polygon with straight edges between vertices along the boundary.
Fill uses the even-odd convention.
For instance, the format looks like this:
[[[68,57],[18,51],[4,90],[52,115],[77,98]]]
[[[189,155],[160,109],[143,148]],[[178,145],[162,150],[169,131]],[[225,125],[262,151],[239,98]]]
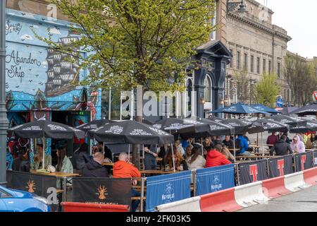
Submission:
[[[63,202],[61,206],[64,212],[129,212],[129,206],[126,205]]]

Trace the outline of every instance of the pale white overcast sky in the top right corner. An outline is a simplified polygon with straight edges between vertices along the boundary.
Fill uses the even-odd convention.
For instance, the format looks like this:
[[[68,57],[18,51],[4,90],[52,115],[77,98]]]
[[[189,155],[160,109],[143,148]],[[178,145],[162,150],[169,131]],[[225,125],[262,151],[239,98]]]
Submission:
[[[292,37],[291,52],[302,57],[317,57],[317,1],[316,0],[257,0],[274,11],[273,23]]]

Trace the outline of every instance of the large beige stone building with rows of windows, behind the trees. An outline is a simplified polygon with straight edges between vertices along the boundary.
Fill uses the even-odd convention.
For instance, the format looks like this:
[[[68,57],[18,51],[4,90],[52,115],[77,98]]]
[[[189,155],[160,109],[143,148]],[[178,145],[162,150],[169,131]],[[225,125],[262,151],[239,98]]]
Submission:
[[[280,85],[280,95],[287,100],[290,88],[282,69],[287,42],[291,37],[286,30],[272,23],[271,9],[254,0],[246,0],[244,3],[247,13],[241,15],[237,11],[230,11],[226,20],[226,45],[233,55],[228,65],[227,79],[237,79],[245,71],[247,90],[250,93],[254,83],[259,82],[264,73],[275,73]],[[250,101],[253,102],[249,98],[244,100],[247,103]]]

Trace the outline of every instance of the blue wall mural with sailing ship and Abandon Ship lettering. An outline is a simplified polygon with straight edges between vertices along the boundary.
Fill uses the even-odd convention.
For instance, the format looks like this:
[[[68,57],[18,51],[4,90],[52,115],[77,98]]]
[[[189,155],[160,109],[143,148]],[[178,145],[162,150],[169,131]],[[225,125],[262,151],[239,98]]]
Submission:
[[[101,90],[73,82],[87,71],[65,60],[66,55],[49,49],[37,35],[68,46],[76,35],[69,23],[8,9],[6,18],[6,107],[9,111],[89,110],[92,119],[101,118]],[[74,49],[80,51],[80,49]],[[85,52],[81,53],[85,57]]]

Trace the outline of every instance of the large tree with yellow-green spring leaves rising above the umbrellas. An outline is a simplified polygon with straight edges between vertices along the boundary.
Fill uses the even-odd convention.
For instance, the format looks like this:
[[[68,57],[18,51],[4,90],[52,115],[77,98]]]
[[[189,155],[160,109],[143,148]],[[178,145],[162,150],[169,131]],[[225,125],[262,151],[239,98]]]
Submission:
[[[195,48],[209,40],[216,26],[214,0],[51,0],[73,23],[80,38],[68,47],[37,37],[50,48],[80,58],[89,76],[80,85],[131,90],[183,90],[185,69]],[[74,52],[80,47],[83,57]],[[199,65],[197,65],[199,66]],[[137,116],[137,121],[142,117]],[[139,166],[139,152],[133,149]]]

